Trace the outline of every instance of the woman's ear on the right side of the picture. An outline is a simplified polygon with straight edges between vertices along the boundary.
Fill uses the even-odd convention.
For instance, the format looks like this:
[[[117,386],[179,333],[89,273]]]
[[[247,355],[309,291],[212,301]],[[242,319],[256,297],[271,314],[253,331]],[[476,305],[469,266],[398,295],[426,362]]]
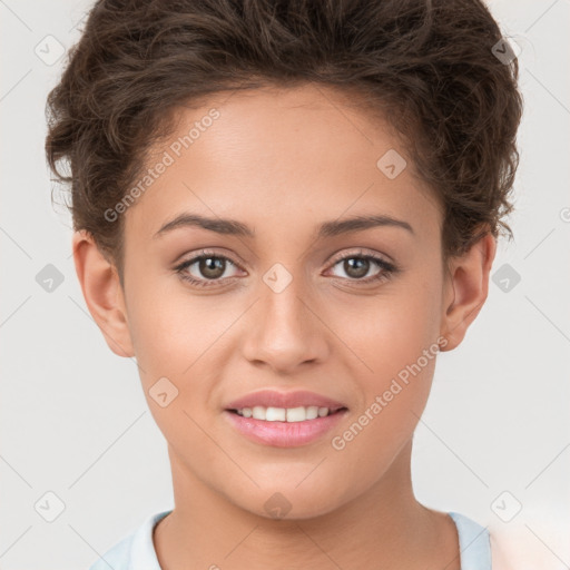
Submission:
[[[444,287],[444,314],[440,334],[446,338],[441,351],[461,344],[469,325],[481,311],[489,293],[489,274],[497,253],[497,240],[487,233],[470,249],[448,265]]]

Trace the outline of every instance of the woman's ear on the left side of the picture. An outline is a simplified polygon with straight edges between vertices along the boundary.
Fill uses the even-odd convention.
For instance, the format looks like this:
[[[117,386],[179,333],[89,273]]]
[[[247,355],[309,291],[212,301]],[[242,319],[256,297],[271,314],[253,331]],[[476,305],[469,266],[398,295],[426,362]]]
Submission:
[[[115,354],[134,356],[117,268],[101,254],[92,236],[86,230],[73,234],[72,245],[76,273],[89,313]]]

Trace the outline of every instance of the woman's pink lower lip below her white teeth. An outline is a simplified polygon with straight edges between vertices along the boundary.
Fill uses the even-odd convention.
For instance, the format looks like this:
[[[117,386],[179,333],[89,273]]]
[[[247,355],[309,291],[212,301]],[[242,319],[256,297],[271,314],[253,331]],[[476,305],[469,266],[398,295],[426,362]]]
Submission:
[[[224,411],[224,415],[236,430],[256,443],[275,448],[296,448],[306,445],[333,429],[348,412],[341,410],[334,414],[305,420],[304,422],[266,422],[244,417],[235,412]]]

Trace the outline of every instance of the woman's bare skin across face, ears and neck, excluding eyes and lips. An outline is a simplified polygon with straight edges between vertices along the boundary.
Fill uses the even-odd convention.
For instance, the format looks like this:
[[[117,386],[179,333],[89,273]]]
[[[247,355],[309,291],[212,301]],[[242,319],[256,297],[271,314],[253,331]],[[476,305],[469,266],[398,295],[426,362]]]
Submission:
[[[124,214],[124,287],[91,237],[73,236],[89,311],[116,354],[136,356],[168,442],[175,510],[154,533],[161,568],[458,570],[453,521],[422,505],[411,482],[435,357],[343,450],[331,439],[439,337],[442,351],[462,342],[488,295],[494,237],[445,267],[442,208],[411,160],[394,179],[376,167],[389,149],[406,156],[394,132],[323,87],[218,94],[181,109],[156,156],[212,107],[220,117]],[[153,237],[181,213],[230,217],[256,236],[186,226]],[[325,220],[371,214],[413,234],[379,226],[315,239]],[[208,289],[174,269],[204,247],[236,264]],[[358,284],[336,261],[358,248],[399,271]],[[276,263],[293,278],[278,294],[263,281]],[[381,271],[371,262],[365,277]],[[198,263],[191,276],[207,281]],[[149,390],[165,376],[178,396],[161,407]],[[311,444],[254,443],[223,410],[263,387],[311,390],[348,413]],[[277,492],[291,504],[282,520],[264,508]]]

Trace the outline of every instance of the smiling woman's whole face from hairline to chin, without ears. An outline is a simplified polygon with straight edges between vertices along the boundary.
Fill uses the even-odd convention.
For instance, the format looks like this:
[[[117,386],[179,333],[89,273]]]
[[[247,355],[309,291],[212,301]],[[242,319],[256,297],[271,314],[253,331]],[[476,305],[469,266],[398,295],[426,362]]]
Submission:
[[[441,209],[386,126],[331,90],[225,94],[179,118],[124,214],[125,314],[175,487],[332,512],[382,484],[425,406]],[[227,410],[262,390],[343,409],[278,429]]]

